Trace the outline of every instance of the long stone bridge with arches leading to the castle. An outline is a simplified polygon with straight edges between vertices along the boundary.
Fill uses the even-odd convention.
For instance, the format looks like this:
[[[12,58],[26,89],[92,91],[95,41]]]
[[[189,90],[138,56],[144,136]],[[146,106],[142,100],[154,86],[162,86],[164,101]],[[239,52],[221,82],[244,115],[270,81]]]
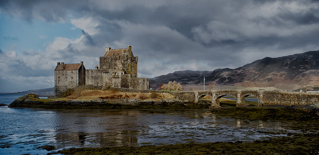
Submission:
[[[183,102],[198,103],[208,95],[211,99],[211,108],[220,108],[219,99],[229,95],[237,99],[236,106],[247,106],[245,98],[255,96],[258,99],[257,106],[265,105],[312,105],[319,103],[319,93],[305,92],[285,92],[285,91],[260,91],[260,90],[212,90],[212,91],[188,91],[188,92],[169,92],[155,90],[133,90],[118,88],[119,91],[141,92],[141,93],[170,93],[176,99]]]

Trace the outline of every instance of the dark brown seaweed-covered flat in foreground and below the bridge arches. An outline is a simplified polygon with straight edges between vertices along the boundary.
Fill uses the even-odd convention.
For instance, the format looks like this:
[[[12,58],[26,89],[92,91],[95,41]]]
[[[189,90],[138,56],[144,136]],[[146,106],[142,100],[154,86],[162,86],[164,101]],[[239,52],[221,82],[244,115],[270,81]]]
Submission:
[[[305,107],[228,107],[212,111],[218,117],[243,119],[242,124],[253,120],[285,124],[285,130],[257,131],[270,137],[250,138],[230,142],[198,143],[196,135],[185,139],[188,143],[174,145],[145,145],[140,147],[72,148],[57,153],[65,155],[318,155],[318,111]],[[239,124],[240,124],[239,123]],[[270,125],[270,124],[268,124]],[[264,123],[261,126],[267,126]],[[283,127],[283,126],[282,126]],[[225,132],[225,131],[224,131]],[[235,130],[232,132],[236,132]],[[187,134],[187,133],[183,133]],[[214,133],[223,134],[223,133]],[[256,135],[256,132],[251,132]],[[246,136],[249,134],[247,133]],[[258,135],[258,134],[257,134]],[[226,135],[224,137],[227,137]],[[231,134],[228,137],[232,137]],[[235,136],[234,136],[235,137]],[[235,139],[232,137],[233,139]]]

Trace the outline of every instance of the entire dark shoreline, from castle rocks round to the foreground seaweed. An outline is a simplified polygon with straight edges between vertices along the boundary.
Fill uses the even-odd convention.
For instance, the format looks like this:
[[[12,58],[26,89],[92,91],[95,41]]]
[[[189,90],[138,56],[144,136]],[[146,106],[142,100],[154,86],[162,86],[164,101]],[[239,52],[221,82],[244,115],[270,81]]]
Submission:
[[[16,99],[9,107],[15,108],[44,108],[44,109],[208,109],[210,104],[181,103],[174,100],[161,101],[106,101],[103,99],[39,99],[27,95]],[[196,106],[194,106],[196,105]],[[318,104],[317,104],[318,105]],[[269,138],[250,142],[188,142],[174,145],[146,145],[139,147],[103,147],[103,148],[71,148],[52,153],[64,155],[92,154],[318,154],[319,153],[319,110],[315,106],[265,106],[265,107],[234,107],[225,104],[227,108],[212,110],[216,115],[231,118],[248,118],[259,120],[278,120],[280,122],[298,121],[300,124],[288,129],[299,130],[300,133],[287,133],[287,136]],[[276,133],[272,133],[276,134]],[[278,133],[280,134],[280,133]],[[307,145],[305,145],[307,144]],[[297,146],[297,147],[296,147]],[[42,146],[47,151],[54,151],[54,146]]]

